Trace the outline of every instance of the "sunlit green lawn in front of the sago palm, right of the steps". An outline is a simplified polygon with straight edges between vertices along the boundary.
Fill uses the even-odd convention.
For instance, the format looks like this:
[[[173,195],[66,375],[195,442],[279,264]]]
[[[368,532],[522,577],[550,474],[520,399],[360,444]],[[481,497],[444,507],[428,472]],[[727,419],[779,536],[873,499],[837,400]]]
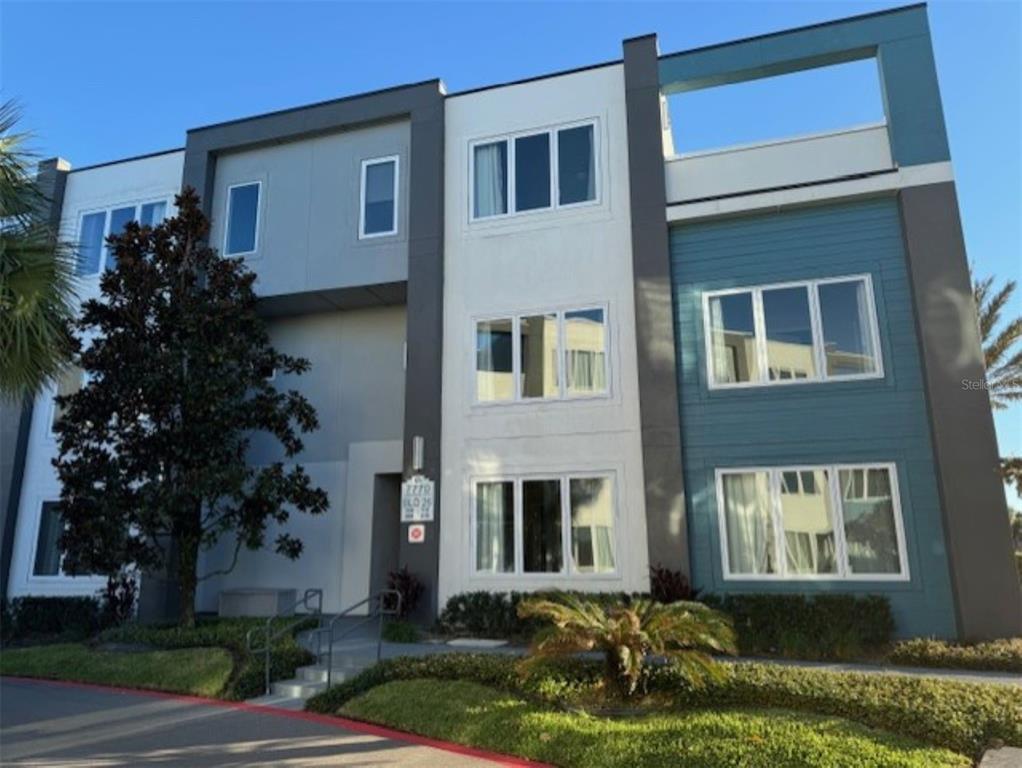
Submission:
[[[476,683],[401,680],[341,715],[569,768],[943,768],[972,761],[857,723],[784,710],[694,710],[606,719],[526,704]]]

